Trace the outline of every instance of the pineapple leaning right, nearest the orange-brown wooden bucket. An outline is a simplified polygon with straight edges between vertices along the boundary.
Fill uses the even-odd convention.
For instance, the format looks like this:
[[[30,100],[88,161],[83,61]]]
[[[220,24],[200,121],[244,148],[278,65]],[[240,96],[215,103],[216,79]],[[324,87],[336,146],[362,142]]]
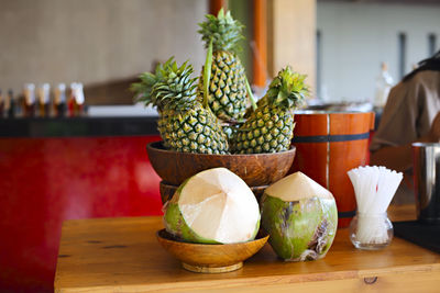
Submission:
[[[304,101],[308,88],[306,76],[280,70],[271,82],[257,109],[234,136],[232,150],[238,154],[277,153],[288,150],[294,136],[294,110]]]

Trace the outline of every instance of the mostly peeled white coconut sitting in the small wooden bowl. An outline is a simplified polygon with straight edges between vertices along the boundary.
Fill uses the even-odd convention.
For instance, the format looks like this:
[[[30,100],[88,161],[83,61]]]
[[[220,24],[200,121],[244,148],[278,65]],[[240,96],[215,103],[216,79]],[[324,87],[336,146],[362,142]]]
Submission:
[[[253,240],[260,210],[246,183],[226,168],[187,179],[165,206],[166,230],[191,243],[233,244]]]

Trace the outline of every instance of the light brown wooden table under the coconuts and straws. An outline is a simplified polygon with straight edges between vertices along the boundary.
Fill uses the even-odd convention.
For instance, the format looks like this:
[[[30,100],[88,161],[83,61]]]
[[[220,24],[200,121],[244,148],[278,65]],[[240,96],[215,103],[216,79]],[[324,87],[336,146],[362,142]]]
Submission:
[[[410,219],[415,213],[404,206],[389,215]],[[202,274],[184,270],[158,245],[162,227],[161,217],[65,222],[55,292],[440,292],[440,255],[399,238],[386,249],[361,251],[344,228],[318,261],[283,262],[266,245],[241,270]]]

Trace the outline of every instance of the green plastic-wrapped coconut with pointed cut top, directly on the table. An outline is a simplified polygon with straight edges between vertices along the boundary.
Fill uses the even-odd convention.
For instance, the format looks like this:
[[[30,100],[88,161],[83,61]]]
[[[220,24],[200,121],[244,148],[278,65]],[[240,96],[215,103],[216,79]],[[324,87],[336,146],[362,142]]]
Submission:
[[[333,243],[338,211],[333,195],[301,172],[268,187],[262,198],[262,226],[278,257],[323,258]]]

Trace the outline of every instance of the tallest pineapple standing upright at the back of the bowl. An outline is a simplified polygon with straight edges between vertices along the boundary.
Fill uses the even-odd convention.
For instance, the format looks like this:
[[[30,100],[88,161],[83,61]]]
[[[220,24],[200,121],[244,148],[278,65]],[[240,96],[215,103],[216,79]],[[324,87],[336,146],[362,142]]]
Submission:
[[[211,75],[208,104],[217,117],[226,122],[240,121],[246,110],[246,77],[237,56],[238,42],[243,38],[243,25],[231,13],[221,9],[217,15],[208,14],[198,31],[208,48],[212,43]],[[199,90],[204,84],[200,76]]]

